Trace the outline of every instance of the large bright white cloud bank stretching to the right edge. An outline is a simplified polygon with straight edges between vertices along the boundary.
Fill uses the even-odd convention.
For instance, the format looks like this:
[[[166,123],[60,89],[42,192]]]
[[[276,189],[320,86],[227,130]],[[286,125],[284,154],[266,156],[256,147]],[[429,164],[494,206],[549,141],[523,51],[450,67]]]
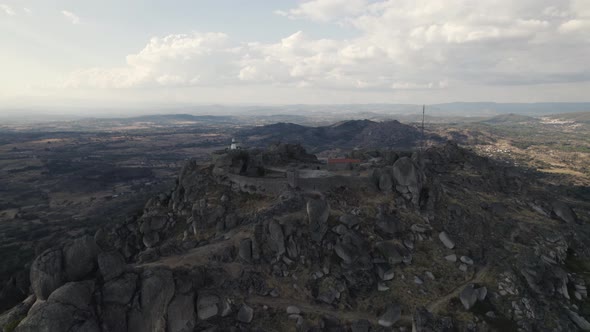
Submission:
[[[590,5],[552,0],[313,0],[281,13],[346,24],[353,38],[303,31],[275,42],[223,33],[152,38],[120,68],[72,73],[68,87],[273,86],[413,91],[590,80]]]

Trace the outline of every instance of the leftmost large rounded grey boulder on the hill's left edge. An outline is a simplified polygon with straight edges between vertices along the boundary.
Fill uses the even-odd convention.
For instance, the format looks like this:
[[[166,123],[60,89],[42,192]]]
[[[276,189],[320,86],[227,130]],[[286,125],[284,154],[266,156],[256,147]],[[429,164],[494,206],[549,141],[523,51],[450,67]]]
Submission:
[[[31,288],[39,300],[46,300],[64,284],[63,258],[60,248],[45,250],[31,265]]]

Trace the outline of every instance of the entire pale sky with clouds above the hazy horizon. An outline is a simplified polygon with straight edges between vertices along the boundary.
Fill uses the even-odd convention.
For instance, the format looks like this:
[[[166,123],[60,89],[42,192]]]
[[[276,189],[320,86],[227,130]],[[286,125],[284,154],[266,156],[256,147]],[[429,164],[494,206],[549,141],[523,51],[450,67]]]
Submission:
[[[0,109],[590,101],[589,0],[0,0]]]

